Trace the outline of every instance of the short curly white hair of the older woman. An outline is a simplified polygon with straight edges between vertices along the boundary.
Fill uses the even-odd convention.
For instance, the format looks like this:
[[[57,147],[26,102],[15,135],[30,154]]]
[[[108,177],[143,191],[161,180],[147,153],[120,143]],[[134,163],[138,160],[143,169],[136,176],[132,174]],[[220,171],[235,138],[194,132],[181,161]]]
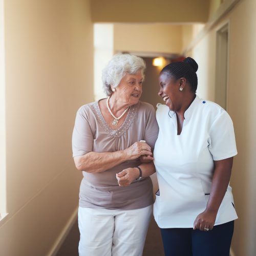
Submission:
[[[131,54],[116,54],[108,65],[102,70],[103,90],[107,96],[111,96],[112,89],[117,87],[126,74],[136,74],[141,71],[144,79],[145,62],[142,58]]]

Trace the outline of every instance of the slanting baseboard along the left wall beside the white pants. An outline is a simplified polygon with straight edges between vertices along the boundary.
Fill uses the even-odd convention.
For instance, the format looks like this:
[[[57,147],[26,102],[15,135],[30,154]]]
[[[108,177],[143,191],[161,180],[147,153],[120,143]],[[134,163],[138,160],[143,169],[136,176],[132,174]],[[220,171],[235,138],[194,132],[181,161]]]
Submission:
[[[73,227],[74,223],[77,220],[77,211],[78,208],[75,209],[72,216],[70,217],[69,221],[65,225],[65,227],[62,229],[61,233],[59,234],[59,237],[56,239],[55,243],[53,244],[52,248],[50,249],[47,256],[55,256],[58,252],[59,248],[61,247],[62,243],[66,239],[66,237],[69,234],[70,229]]]

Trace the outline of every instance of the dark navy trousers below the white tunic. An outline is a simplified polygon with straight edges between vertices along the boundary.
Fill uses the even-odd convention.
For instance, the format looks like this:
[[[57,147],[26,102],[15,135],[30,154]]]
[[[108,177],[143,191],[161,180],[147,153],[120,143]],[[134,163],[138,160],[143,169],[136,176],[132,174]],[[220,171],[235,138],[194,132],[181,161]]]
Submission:
[[[161,228],[165,256],[229,256],[234,221],[212,230]]]

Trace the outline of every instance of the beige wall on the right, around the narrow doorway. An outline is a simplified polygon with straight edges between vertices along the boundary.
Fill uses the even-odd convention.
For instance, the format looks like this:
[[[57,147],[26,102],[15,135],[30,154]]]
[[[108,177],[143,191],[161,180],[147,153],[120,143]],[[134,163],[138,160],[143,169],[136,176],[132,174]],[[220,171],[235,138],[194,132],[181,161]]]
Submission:
[[[254,0],[241,0],[192,50],[199,63],[198,93],[214,100],[216,30],[229,22],[227,110],[233,120],[238,147],[231,177],[239,216],[232,241],[236,256],[253,256],[256,252],[255,13]]]

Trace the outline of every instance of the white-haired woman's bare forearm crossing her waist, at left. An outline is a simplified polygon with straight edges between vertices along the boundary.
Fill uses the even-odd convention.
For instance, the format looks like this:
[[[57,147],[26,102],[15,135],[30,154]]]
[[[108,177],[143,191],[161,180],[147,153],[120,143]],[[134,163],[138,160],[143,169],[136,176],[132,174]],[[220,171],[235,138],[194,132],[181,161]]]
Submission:
[[[74,157],[76,168],[88,173],[104,172],[126,160],[128,160],[128,157],[124,151],[89,152],[86,155]]]

